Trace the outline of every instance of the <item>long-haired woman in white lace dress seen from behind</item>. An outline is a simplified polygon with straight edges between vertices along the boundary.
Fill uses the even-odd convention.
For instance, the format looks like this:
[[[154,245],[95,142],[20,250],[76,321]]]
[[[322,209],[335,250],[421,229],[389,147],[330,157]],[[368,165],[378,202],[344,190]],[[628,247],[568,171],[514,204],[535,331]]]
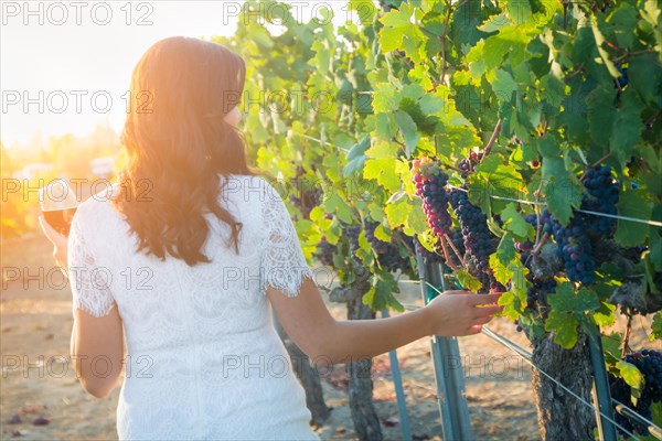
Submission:
[[[222,45],[157,42],[132,74],[119,185],[78,207],[68,239],[40,218],[70,277],[83,388],[107,396],[126,365],[120,440],[318,439],[271,309],[323,364],[476,334],[501,311],[499,294],[452,291],[391,319],[334,320],[282,200],[246,162],[244,79]]]

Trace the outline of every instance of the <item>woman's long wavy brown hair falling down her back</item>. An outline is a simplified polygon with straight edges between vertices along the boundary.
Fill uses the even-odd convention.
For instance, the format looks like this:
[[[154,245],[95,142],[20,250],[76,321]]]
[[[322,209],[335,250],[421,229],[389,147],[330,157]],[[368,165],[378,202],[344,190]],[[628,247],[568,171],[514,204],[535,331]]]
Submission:
[[[209,262],[205,213],[229,226],[227,245],[238,252],[242,224],[220,204],[220,176],[255,174],[242,133],[223,120],[238,106],[245,76],[241,56],[186,36],[157,42],[138,62],[120,136],[129,163],[114,204],[139,252]]]

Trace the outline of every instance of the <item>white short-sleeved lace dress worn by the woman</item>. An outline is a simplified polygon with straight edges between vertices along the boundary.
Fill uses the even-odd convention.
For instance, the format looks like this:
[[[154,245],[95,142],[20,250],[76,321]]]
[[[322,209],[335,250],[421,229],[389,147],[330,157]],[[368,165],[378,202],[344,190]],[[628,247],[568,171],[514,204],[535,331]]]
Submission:
[[[95,316],[117,308],[124,322],[120,440],[319,440],[266,297],[267,283],[296,295],[312,272],[274,187],[255,176],[227,181],[222,203],[243,223],[239,255],[209,215],[211,263],[138,254],[107,197],[74,216],[73,308]]]

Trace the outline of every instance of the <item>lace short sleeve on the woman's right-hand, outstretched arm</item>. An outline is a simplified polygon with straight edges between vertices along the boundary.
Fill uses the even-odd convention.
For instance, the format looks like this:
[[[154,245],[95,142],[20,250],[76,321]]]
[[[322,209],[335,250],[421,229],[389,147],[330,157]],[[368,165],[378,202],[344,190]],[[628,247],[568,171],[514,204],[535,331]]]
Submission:
[[[266,293],[269,284],[288,297],[295,297],[303,279],[313,279],[313,275],[282,198],[269,184],[266,184],[264,196],[266,244],[260,268],[263,289]]]

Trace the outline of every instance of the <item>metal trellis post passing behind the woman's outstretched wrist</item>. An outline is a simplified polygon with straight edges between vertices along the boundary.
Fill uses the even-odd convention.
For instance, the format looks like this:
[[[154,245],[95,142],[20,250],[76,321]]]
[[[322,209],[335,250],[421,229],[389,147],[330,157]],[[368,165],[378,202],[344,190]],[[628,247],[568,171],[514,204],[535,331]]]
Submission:
[[[430,299],[428,284],[446,290],[444,267],[441,265],[424,263],[420,254],[416,252],[420,289],[424,303]],[[427,283],[426,283],[427,282]],[[435,381],[437,384],[437,402],[441,415],[442,438],[446,441],[473,440],[471,433],[471,418],[469,405],[465,397],[465,373],[462,369],[460,348],[455,337],[430,338],[433,365],[435,367]],[[445,362],[460,363],[445,363]]]

